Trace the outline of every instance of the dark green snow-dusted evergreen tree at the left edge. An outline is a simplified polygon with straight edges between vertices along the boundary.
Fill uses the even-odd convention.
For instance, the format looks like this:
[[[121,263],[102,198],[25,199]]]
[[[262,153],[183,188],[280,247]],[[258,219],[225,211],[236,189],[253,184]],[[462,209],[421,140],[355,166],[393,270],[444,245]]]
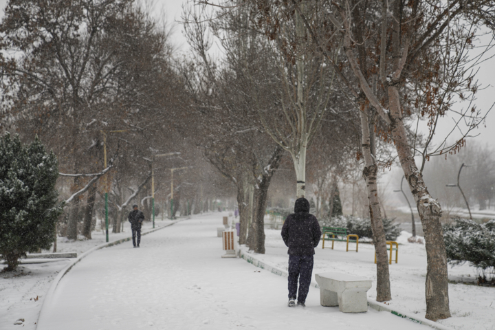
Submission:
[[[48,249],[54,241],[58,201],[57,159],[38,137],[22,144],[19,135],[0,137],[0,254],[15,270],[27,252]]]

